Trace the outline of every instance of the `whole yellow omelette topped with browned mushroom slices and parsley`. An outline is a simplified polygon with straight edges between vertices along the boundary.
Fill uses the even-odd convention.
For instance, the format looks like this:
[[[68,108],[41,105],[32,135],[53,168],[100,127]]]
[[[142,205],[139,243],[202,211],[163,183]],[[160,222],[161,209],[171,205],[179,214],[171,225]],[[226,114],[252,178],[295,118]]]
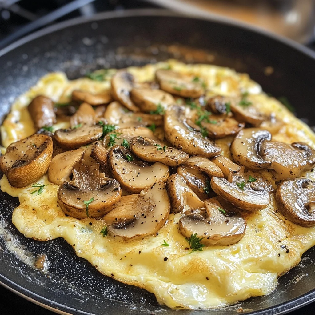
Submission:
[[[177,60],[49,73],[0,128],[17,229],[64,238],[160,304],[266,295],[315,245],[315,135],[247,74]]]

